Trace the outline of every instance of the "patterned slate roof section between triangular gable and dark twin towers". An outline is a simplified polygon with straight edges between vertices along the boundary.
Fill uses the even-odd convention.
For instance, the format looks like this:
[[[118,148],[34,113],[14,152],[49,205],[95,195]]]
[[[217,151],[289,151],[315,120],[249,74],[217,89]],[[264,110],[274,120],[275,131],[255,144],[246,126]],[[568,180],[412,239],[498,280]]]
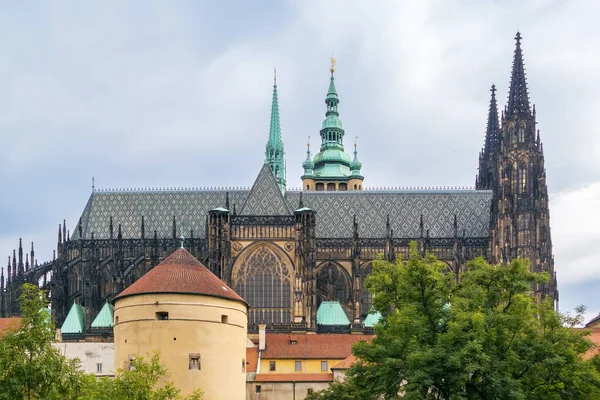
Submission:
[[[298,205],[299,192],[288,192]],[[305,207],[317,212],[317,237],[352,237],[356,214],[360,237],[385,237],[387,216],[394,237],[418,238],[423,214],[431,237],[453,237],[454,215],[459,235],[488,237],[492,192],[487,190],[395,190],[303,192]]]

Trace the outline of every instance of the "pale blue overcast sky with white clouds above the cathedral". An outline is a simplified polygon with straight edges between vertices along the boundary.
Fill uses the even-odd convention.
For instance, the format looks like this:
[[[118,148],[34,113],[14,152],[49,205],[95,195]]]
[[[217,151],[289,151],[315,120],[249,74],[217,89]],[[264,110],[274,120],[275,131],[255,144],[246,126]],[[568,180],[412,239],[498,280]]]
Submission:
[[[100,188],[250,186],[277,68],[288,186],[329,81],[365,186],[473,185],[517,30],[544,142],[560,306],[600,312],[595,1],[102,1],[0,5],[0,255],[39,262]],[[7,259],[1,262],[6,265]]]

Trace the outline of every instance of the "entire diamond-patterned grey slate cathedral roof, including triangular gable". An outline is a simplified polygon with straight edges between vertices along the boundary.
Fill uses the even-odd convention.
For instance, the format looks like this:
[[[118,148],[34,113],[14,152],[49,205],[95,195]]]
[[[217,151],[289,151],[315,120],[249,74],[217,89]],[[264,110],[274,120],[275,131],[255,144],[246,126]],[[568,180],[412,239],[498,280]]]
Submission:
[[[229,193],[230,208],[239,215],[289,215],[298,208],[299,191],[287,191],[284,197],[271,169],[261,168],[251,190],[140,190],[96,191],[81,215],[82,237],[109,238],[109,220],[113,217],[113,237],[121,224],[124,238],[140,237],[144,217],[145,234],[151,238],[173,236],[173,217],[177,235],[204,238],[206,215],[225,207]],[[352,237],[352,219],[356,215],[359,236],[385,237],[389,215],[394,237],[418,238],[423,215],[430,237],[453,237],[454,215],[459,235],[488,237],[492,192],[488,190],[377,190],[349,192],[303,192],[303,204],[317,212],[317,237]],[[287,204],[286,204],[287,203]],[[79,238],[78,229],[73,239]]]

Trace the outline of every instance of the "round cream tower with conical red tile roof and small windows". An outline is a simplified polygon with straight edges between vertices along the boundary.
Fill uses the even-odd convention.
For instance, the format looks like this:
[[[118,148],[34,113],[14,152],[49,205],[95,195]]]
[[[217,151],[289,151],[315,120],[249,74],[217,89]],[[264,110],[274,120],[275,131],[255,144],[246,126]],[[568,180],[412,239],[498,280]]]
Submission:
[[[243,399],[248,305],[185,249],[114,300],[115,369],[160,351],[166,380],[206,400]]]

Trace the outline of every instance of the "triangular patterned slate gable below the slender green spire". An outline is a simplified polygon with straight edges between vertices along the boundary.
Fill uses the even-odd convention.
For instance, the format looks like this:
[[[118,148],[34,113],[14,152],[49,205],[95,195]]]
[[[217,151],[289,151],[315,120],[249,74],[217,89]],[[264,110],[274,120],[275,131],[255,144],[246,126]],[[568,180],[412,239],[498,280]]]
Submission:
[[[292,215],[269,165],[261,168],[240,215]]]

